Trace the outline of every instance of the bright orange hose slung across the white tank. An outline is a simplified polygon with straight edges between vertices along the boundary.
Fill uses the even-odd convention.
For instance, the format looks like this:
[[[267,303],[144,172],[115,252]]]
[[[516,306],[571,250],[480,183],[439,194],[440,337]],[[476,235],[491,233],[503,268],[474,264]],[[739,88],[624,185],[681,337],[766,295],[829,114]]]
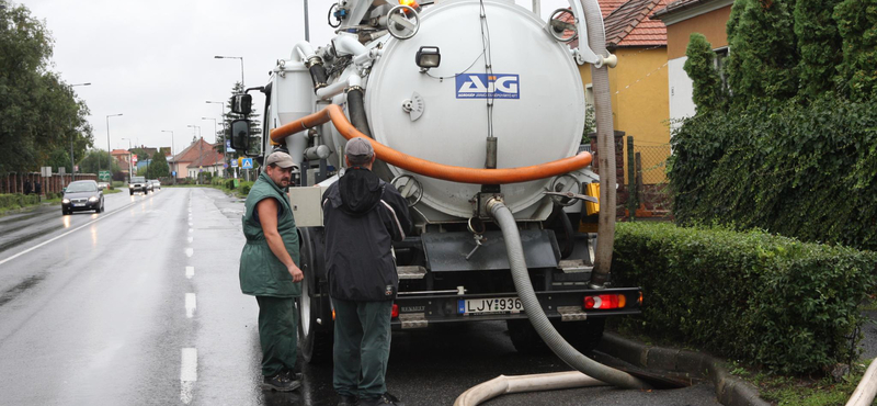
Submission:
[[[402,154],[367,137],[348,121],[341,106],[337,104],[328,105],[319,112],[272,129],[271,139],[280,143],[289,135],[328,123],[329,121],[332,122],[335,128],[338,128],[338,132],[346,139],[355,137],[367,139],[372,143],[372,147],[375,148],[377,157],[385,162],[414,173],[451,182],[475,184],[520,183],[563,174],[591,165],[590,153],[581,153],[574,157],[558,159],[542,165],[505,169],[476,169],[432,162]]]

